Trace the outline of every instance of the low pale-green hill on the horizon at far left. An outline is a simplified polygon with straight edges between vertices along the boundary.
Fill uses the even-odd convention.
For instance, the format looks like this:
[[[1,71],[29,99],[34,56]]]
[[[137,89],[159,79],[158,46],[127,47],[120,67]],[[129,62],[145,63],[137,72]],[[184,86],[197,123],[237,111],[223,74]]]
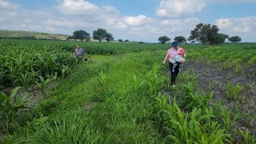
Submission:
[[[70,35],[67,34],[50,34],[39,33],[36,31],[23,31],[23,30],[0,30],[0,38],[37,38],[37,39],[59,39],[66,40]]]

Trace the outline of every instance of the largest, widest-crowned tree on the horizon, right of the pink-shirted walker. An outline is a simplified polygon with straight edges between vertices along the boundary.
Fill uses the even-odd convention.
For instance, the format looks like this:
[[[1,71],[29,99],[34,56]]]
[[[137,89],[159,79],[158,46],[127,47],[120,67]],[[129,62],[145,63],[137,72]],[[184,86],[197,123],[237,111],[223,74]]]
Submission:
[[[203,44],[219,44],[225,42],[229,36],[226,34],[218,34],[217,26],[210,26],[210,24],[199,23],[194,30],[190,31],[191,40],[202,42]]]

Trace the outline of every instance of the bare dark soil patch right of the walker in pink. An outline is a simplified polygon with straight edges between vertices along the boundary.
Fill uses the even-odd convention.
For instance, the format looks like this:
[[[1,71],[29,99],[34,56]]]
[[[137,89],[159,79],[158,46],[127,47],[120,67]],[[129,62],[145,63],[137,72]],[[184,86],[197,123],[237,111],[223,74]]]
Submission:
[[[250,126],[248,121],[252,118],[251,116],[256,116],[256,65],[250,66],[243,74],[234,74],[234,70],[218,70],[218,66],[219,64],[206,65],[190,61],[186,62],[184,70],[194,70],[195,74],[198,74],[198,84],[202,90],[208,93],[214,91],[214,97],[211,102],[222,102],[222,105],[230,110],[236,106],[241,110],[244,115],[238,122],[238,126],[254,130],[256,118],[251,121],[252,124]],[[226,86],[229,81],[232,85],[238,82],[242,84],[244,90],[240,95],[245,98],[244,102],[236,102],[227,98]],[[255,85],[250,88],[249,83],[253,82],[255,82]],[[245,118],[246,116],[248,118]]]

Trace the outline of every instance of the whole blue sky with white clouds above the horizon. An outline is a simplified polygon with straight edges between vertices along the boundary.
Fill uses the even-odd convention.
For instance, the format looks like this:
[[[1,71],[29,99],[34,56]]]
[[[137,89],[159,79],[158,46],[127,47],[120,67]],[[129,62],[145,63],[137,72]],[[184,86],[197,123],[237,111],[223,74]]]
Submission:
[[[256,42],[256,0],[0,0],[0,30],[92,34],[106,29],[115,39],[158,42],[190,36],[202,22],[220,33]]]

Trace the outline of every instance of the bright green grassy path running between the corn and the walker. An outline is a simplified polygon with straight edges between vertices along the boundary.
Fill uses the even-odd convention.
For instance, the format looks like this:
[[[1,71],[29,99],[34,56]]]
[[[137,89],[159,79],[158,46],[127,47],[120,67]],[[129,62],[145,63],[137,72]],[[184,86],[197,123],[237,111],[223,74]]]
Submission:
[[[140,83],[162,51],[92,56],[74,67],[4,143],[158,143],[154,98]]]

